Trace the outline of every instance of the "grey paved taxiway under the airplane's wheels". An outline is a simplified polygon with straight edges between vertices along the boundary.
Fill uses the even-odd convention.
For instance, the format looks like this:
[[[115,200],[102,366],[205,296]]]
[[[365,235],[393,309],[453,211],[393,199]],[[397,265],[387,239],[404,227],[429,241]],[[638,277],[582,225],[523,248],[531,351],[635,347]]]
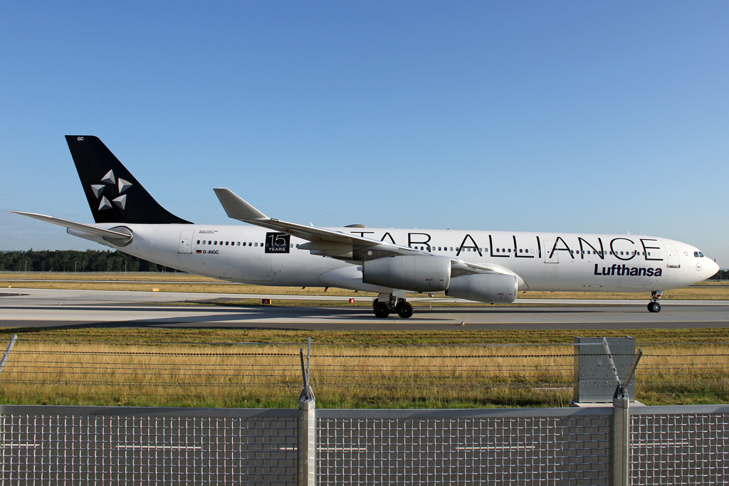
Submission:
[[[270,298],[273,305],[225,306],[228,299]],[[276,306],[277,299],[317,299],[334,306]],[[356,297],[370,302],[370,297]],[[409,299],[427,303],[428,297]],[[437,299],[444,302],[445,299]],[[190,305],[190,302],[217,305]],[[643,300],[518,299],[518,305],[416,307],[410,319],[378,319],[370,307],[354,307],[348,297],[192,292],[1,289],[0,326],[98,326],[149,328],[229,328],[300,330],[444,329],[676,329],[729,326],[729,301],[661,302],[649,313]],[[525,305],[526,304],[526,305]],[[461,326],[461,321],[465,326]]]

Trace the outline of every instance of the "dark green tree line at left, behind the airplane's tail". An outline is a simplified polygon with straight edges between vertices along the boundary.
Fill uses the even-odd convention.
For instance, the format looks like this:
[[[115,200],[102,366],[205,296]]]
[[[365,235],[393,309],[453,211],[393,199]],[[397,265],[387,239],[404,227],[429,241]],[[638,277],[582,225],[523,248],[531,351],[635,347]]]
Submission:
[[[0,271],[15,272],[174,272],[112,250],[41,250],[0,252]]]

